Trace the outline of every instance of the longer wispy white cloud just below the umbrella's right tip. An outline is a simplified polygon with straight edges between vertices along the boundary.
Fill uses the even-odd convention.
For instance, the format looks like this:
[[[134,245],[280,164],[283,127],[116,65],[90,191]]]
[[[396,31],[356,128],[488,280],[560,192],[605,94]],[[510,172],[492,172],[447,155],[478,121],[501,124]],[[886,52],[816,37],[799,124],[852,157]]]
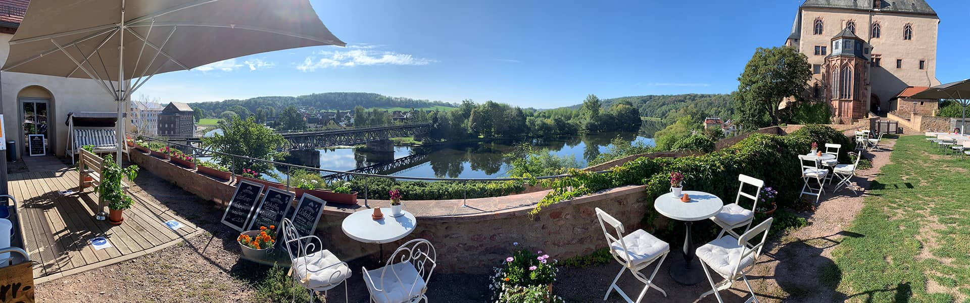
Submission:
[[[312,72],[318,68],[354,67],[358,65],[428,65],[436,62],[428,58],[394,51],[376,50],[377,46],[352,45],[350,50],[317,51],[297,64],[297,69]],[[318,57],[322,56],[322,57]]]

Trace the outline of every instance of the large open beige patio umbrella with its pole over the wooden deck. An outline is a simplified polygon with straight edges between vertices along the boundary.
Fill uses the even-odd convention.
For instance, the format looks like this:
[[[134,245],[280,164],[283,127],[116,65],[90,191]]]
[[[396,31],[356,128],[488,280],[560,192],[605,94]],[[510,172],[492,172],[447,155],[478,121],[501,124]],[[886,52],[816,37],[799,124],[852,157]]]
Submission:
[[[127,98],[157,74],[345,46],[307,0],[33,0],[10,45],[3,71],[92,79],[117,101],[118,121]],[[121,147],[124,123],[116,124]]]

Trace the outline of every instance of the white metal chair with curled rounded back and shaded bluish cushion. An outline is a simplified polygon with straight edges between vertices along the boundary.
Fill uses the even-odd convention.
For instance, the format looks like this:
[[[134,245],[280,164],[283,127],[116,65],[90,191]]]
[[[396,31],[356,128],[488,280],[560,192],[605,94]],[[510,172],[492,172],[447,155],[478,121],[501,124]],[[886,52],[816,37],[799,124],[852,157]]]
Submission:
[[[428,282],[436,266],[435,247],[425,239],[404,243],[391,254],[384,267],[367,270],[364,283],[377,303],[428,302]]]

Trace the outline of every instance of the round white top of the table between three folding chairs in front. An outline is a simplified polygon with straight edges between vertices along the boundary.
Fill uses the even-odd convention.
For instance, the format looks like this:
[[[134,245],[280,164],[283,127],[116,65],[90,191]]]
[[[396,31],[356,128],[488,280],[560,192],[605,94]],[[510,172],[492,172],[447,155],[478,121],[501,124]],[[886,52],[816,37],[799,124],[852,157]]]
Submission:
[[[695,221],[714,217],[725,206],[721,198],[707,192],[684,190],[683,193],[691,196],[691,202],[680,202],[680,197],[667,192],[654,200],[654,208],[669,219]]]

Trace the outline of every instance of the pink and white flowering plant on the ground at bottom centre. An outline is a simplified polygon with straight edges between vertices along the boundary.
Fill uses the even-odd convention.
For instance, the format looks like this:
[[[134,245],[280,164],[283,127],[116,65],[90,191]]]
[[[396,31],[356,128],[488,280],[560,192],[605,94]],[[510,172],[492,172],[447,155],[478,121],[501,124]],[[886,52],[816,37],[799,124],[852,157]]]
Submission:
[[[518,243],[513,243],[518,246]],[[512,253],[495,268],[492,285],[492,301],[511,302],[564,302],[552,294],[556,281],[557,261],[538,251],[519,250]]]

